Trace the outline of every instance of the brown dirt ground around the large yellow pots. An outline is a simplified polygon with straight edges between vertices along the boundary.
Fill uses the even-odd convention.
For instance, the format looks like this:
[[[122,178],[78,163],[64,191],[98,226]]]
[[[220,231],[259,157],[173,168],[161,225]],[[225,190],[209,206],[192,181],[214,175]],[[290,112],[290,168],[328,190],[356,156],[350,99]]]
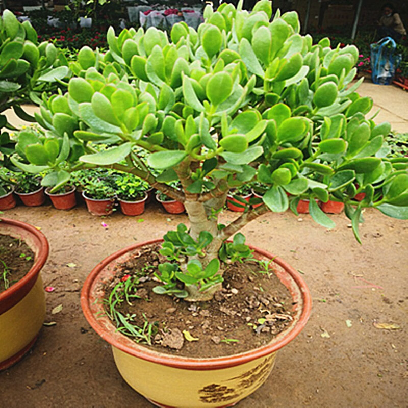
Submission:
[[[101,219],[83,204],[68,212],[18,206],[4,216],[40,227],[48,238],[42,277],[44,287],[56,290],[46,293],[46,321],[57,324],[43,327],[31,353],[0,373],[0,407],[150,407],[122,380],[109,345],[83,317],[80,289],[100,260],[161,237],[186,216],[168,215],[157,203],[139,217],[117,212]],[[222,221],[234,217],[226,211]],[[247,242],[303,273],[314,304],[308,325],[278,353],[266,384],[239,408],[408,406],[408,222],[367,211],[359,245],[344,214],[333,219],[337,226],[327,231],[309,215],[269,213],[243,230]],[[59,304],[62,311],[52,315]]]

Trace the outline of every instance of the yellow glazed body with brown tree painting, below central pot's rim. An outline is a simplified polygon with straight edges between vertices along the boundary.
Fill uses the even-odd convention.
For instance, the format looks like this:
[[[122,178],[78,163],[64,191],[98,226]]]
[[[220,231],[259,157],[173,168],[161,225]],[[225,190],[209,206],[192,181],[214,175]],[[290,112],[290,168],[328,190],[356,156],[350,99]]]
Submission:
[[[164,366],[112,347],[123,379],[141,395],[164,406],[231,406],[257,390],[268,378],[276,352],[238,366],[196,370]],[[160,381],[152,379],[160,378]],[[176,392],[175,392],[176,390]]]

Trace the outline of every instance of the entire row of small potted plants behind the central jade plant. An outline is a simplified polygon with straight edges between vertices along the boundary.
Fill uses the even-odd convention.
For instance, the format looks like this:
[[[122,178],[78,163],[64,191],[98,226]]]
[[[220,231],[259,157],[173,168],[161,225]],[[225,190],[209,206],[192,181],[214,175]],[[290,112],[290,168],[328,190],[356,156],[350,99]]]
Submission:
[[[248,205],[257,208],[262,205],[264,190],[264,186],[258,182],[236,188],[228,195],[227,208],[235,212],[244,212]],[[45,193],[59,210],[75,207],[76,197],[79,195],[84,198],[88,211],[93,215],[111,214],[117,199],[124,215],[136,216],[144,212],[145,203],[150,201],[153,191],[154,189],[139,177],[120,171],[80,170],[74,173],[71,185],[64,185],[56,191],[51,187],[44,190],[38,176],[9,172],[8,177],[3,174],[0,178],[0,210],[16,206],[13,193],[19,196],[24,205],[30,207],[41,206],[45,201]],[[355,198],[362,200],[364,193],[356,195]],[[156,199],[168,213],[181,214],[185,211],[182,202],[171,199],[164,193],[158,192]],[[328,214],[340,214],[344,209],[344,203],[333,200],[319,201],[319,206]],[[296,211],[299,214],[309,213],[309,200],[299,200]]]

